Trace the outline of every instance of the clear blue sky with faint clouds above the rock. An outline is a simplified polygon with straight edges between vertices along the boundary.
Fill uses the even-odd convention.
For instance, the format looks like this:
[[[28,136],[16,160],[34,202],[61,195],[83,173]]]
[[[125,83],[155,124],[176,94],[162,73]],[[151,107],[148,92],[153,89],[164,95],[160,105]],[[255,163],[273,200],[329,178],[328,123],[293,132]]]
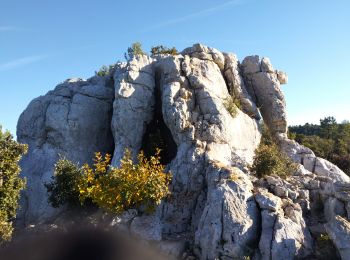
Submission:
[[[289,124],[350,120],[349,11],[349,0],[0,0],[0,124],[15,133],[30,100],[135,41],[267,56],[289,75]]]

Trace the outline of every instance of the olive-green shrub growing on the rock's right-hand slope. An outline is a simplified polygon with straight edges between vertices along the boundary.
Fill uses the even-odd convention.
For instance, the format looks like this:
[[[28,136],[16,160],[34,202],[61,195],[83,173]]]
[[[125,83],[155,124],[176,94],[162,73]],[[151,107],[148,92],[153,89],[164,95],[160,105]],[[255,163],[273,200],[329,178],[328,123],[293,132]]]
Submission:
[[[293,174],[296,170],[296,164],[283,152],[273,141],[266,127],[263,127],[263,133],[259,147],[255,150],[254,162],[251,170],[261,178],[266,175],[277,175],[282,178]]]

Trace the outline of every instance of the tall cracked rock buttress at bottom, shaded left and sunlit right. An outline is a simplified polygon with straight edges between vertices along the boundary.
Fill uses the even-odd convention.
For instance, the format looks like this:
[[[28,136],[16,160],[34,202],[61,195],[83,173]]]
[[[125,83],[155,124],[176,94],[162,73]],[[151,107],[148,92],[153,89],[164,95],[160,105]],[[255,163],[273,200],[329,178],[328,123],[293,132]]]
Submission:
[[[206,171],[208,195],[195,233],[201,259],[243,258],[257,243],[259,212],[253,185],[239,168],[214,164]]]

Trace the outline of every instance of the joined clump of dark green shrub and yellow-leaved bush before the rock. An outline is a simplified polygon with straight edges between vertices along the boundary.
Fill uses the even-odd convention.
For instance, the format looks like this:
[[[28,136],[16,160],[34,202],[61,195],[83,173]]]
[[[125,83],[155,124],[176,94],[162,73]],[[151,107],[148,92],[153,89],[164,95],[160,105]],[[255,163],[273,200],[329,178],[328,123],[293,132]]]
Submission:
[[[131,152],[125,151],[119,168],[110,167],[111,157],[96,153],[94,164],[78,167],[61,159],[47,191],[51,205],[57,207],[84,204],[87,200],[105,210],[120,213],[143,206],[152,211],[169,194],[171,175],[160,163],[160,150],[147,159],[143,152],[134,163]]]

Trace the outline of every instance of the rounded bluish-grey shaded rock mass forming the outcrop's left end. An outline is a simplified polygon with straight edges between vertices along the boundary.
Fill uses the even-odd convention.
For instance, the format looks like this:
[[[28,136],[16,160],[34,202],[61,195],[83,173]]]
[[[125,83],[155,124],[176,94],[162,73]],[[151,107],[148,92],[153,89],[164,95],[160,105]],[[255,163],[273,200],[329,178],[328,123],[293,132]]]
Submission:
[[[107,77],[67,80],[34,99],[22,113],[17,137],[29,144],[29,152],[21,161],[27,189],[22,195],[20,222],[40,222],[57,213],[48,205],[44,183],[53,175],[59,155],[85,163],[97,151],[113,151],[113,94]]]

